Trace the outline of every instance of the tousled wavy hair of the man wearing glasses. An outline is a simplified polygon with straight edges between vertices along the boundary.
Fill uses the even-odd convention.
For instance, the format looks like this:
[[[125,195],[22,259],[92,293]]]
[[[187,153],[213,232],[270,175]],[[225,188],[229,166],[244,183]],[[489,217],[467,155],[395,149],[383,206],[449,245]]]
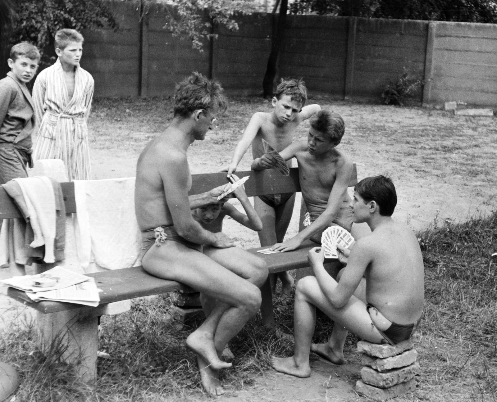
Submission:
[[[222,113],[227,108],[224,89],[217,80],[209,80],[200,73],[193,73],[176,85],[174,116],[188,117],[193,111],[209,110],[215,105]]]

